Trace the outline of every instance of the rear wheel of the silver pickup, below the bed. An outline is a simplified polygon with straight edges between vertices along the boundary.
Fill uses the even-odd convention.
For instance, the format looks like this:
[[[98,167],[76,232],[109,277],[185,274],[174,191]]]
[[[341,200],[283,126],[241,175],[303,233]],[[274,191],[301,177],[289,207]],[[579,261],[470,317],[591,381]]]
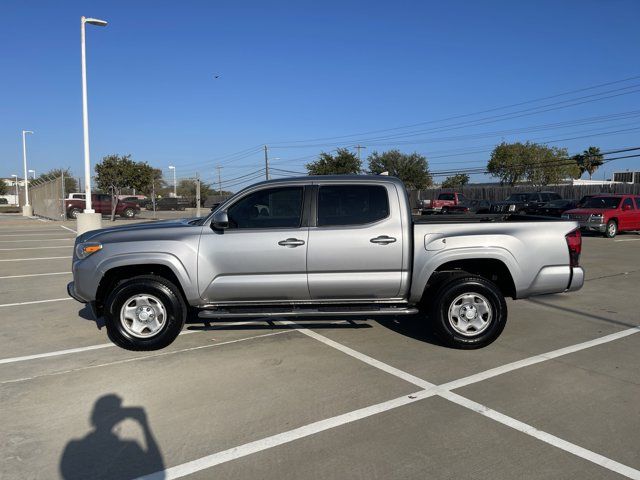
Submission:
[[[464,294],[473,297],[471,303],[464,303],[465,300],[456,301]],[[467,305],[473,306],[473,311],[484,306],[489,312],[489,315],[481,316],[487,322],[478,329],[478,333],[474,333],[475,327],[469,327],[466,332],[461,332],[466,322],[464,318],[462,322],[459,318],[456,321],[456,315],[452,315],[450,320],[450,309],[456,311],[455,307],[458,306],[457,312],[461,312],[462,308],[467,308]],[[507,323],[507,303],[502,292],[493,282],[475,275],[453,276],[443,283],[433,300],[429,302],[427,312],[429,323],[438,337],[445,344],[460,349],[482,348],[489,345],[500,336]]]

